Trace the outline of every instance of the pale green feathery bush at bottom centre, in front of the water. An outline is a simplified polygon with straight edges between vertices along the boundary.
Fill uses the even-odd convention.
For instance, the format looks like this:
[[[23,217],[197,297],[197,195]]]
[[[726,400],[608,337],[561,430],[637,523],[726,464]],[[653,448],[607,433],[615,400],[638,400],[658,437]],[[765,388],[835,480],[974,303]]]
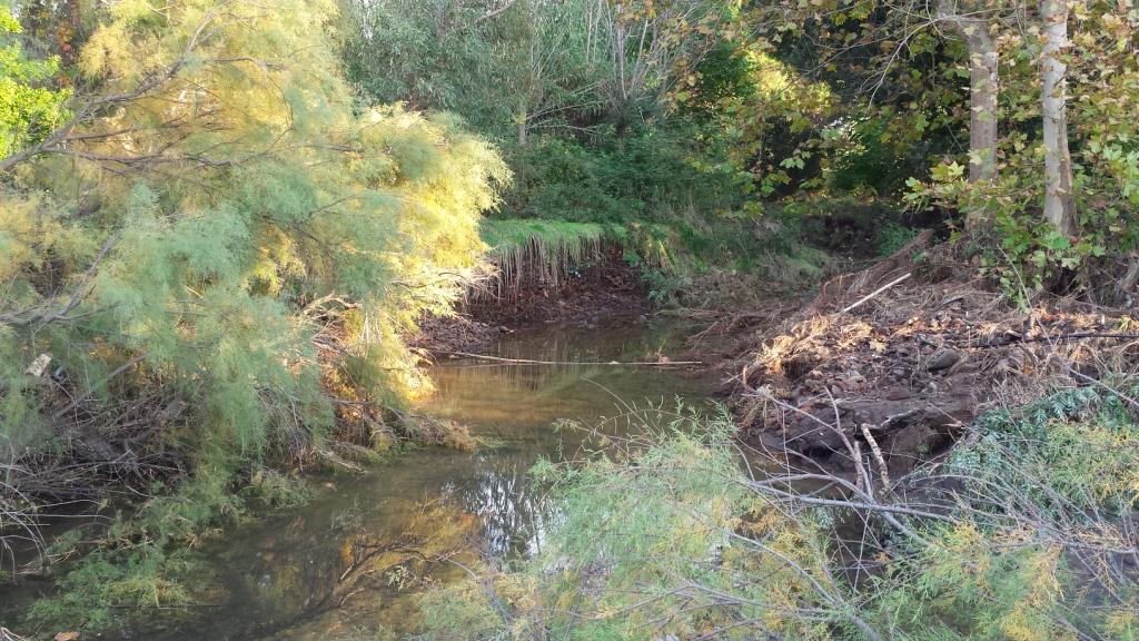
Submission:
[[[831,583],[819,565],[821,530],[754,501],[739,482],[726,414],[681,407],[656,429],[649,443],[609,449],[585,466],[535,466],[558,513],[542,552],[490,574],[482,587],[428,593],[425,638],[691,638],[737,617],[757,617],[786,638],[822,638],[821,616],[794,617],[798,607],[830,611],[810,586]],[[748,579],[752,573],[763,579]],[[748,638],[747,628],[737,632]]]

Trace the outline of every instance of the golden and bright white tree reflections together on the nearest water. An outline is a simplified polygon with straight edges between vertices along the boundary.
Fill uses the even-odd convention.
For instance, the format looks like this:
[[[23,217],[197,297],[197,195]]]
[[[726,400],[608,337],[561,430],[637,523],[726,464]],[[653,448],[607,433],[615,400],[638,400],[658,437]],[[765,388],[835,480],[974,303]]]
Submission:
[[[542,516],[526,471],[530,451],[489,451],[442,474],[427,500],[388,500],[383,521],[347,504],[314,522],[310,510],[230,541],[222,610],[196,628],[207,638],[254,639],[329,615],[350,599],[378,605],[399,584],[421,578],[459,555],[505,555],[532,549]],[[454,478],[458,477],[458,478]],[[477,550],[475,549],[477,547]],[[410,594],[410,592],[409,592]],[[361,601],[361,603],[363,603]],[[335,615],[331,615],[335,616]]]

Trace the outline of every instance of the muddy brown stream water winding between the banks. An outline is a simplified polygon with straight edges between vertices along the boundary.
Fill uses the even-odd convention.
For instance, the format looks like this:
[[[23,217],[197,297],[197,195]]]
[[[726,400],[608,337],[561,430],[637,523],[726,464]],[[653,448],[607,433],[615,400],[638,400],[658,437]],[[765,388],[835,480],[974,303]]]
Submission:
[[[656,360],[682,333],[637,324],[548,328],[483,351],[555,362]],[[402,638],[417,628],[424,581],[462,576],[476,555],[527,554],[547,518],[526,470],[539,456],[581,453],[580,431],[624,404],[702,403],[708,381],[677,368],[495,365],[450,360],[417,411],[453,419],[484,441],[475,452],[401,454],[367,474],[321,481],[303,508],[264,514],[200,551],[218,593],[199,607],[155,612],[132,638],[327,640]],[[609,429],[628,429],[620,422]],[[585,444],[588,445],[588,443]],[[222,543],[223,542],[223,543]],[[426,561],[448,554],[458,563]]]

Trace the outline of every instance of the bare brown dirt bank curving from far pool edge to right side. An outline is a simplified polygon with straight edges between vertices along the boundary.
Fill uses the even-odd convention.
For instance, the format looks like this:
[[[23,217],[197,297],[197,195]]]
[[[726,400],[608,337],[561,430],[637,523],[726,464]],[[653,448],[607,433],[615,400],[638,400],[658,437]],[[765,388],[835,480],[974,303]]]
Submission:
[[[874,457],[899,477],[969,433],[980,414],[1058,387],[1099,384],[1139,351],[1136,318],[1067,299],[1023,309],[925,233],[804,295],[800,283],[713,273],[653,310],[620,257],[557,283],[472,297],[413,344],[472,351],[547,323],[680,314],[703,323],[685,358],[720,363],[744,439],[831,470]],[[866,262],[862,262],[865,266]]]

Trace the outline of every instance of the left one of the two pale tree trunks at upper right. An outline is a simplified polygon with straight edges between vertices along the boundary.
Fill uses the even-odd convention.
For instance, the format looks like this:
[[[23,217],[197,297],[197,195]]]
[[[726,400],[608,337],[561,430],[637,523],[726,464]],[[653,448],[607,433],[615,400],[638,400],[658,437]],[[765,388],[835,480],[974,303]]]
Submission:
[[[937,2],[937,16],[950,24],[969,50],[969,182],[997,179],[997,96],[1000,90],[1000,54],[989,32],[989,21],[977,11],[958,11],[953,0]],[[967,214],[970,229],[986,226],[984,211]]]

